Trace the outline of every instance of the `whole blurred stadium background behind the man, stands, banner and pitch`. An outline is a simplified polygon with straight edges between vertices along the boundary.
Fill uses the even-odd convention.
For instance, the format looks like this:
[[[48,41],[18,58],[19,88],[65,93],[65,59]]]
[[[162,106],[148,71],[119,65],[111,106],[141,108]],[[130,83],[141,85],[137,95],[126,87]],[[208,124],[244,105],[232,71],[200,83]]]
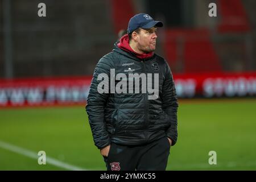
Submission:
[[[46,17],[38,16],[41,2]],[[212,2],[217,17],[208,15]],[[255,170],[255,7],[254,0],[0,0],[0,170],[105,170],[86,97],[98,60],[137,13],[164,23],[155,52],[170,64],[179,97],[167,170]]]

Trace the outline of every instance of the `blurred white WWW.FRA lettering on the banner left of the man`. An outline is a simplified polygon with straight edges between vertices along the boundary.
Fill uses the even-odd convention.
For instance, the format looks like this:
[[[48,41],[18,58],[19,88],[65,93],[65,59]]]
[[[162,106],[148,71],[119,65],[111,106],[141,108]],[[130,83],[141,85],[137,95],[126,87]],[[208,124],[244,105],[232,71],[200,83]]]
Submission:
[[[5,106],[10,101],[11,105],[39,105],[42,102],[51,104],[57,102],[85,102],[89,94],[89,86],[49,86],[46,89],[35,88],[1,88],[0,106]]]

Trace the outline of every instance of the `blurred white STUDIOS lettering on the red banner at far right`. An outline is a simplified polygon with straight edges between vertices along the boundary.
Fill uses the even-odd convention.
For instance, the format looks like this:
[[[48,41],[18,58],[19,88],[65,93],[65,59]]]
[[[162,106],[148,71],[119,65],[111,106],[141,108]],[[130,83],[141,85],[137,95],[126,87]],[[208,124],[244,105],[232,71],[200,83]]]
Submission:
[[[203,82],[205,97],[243,97],[256,94],[255,78],[207,78]]]

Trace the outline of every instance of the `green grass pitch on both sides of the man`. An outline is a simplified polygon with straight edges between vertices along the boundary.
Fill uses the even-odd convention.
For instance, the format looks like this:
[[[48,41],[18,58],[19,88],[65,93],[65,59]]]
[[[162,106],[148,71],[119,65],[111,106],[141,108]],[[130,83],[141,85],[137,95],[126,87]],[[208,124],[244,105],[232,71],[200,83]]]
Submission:
[[[167,170],[255,170],[256,100],[180,101]],[[0,142],[75,167],[105,170],[84,106],[0,109]],[[217,152],[210,165],[209,151]],[[46,159],[47,162],[47,159]],[[65,170],[0,144],[0,170]],[[66,168],[67,169],[67,168]]]

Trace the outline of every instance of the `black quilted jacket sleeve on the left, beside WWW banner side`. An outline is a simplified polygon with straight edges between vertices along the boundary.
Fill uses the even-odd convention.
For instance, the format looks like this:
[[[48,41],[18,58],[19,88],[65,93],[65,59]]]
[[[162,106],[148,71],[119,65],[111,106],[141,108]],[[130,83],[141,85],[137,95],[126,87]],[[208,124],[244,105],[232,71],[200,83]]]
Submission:
[[[100,149],[110,144],[109,133],[106,130],[106,122],[104,118],[104,110],[106,101],[109,97],[108,93],[98,92],[98,84],[106,80],[97,80],[98,75],[105,73],[110,79],[110,60],[102,57],[93,73],[92,82],[88,94],[86,112],[89,117],[90,128],[92,130],[94,144]],[[109,84],[110,87],[110,84]]]

